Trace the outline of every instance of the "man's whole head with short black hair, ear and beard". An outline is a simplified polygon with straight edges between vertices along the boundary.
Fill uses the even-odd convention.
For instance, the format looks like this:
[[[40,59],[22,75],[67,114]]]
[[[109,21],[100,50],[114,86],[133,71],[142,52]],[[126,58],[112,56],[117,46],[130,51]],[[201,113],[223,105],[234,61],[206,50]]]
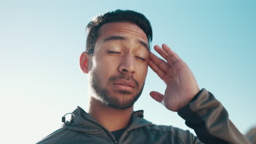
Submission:
[[[89,74],[91,96],[114,109],[131,107],[142,93],[152,28],[144,15],[116,10],[88,26],[80,66]]]

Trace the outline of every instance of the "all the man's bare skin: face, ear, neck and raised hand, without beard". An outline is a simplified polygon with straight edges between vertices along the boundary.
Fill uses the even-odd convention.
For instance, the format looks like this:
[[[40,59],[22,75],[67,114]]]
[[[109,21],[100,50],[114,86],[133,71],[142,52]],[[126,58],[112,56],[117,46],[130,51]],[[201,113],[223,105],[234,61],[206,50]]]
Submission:
[[[106,89],[109,97],[124,104],[143,88],[149,66],[166,83],[165,94],[150,92],[150,96],[168,110],[178,111],[200,91],[195,77],[188,65],[167,45],[154,46],[166,62],[149,52],[148,46],[146,34],[138,26],[128,22],[106,23],[99,30],[92,59],[88,53],[83,52],[80,56],[80,67],[89,75],[89,81],[95,72],[100,79],[100,86]],[[138,85],[131,88],[109,82],[110,77],[117,75],[132,77]],[[89,87],[89,91],[89,114],[103,127],[114,131],[129,124],[133,105],[127,109],[114,109],[106,105],[101,97],[92,91],[92,87]]]

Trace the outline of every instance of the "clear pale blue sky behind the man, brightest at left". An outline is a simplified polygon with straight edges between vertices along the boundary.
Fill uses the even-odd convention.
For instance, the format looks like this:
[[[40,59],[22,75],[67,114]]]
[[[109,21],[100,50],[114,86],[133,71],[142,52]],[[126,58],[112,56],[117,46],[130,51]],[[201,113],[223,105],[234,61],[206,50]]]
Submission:
[[[212,92],[246,133],[256,125],[255,6],[255,1],[0,1],[1,143],[35,143],[60,128],[66,113],[77,106],[86,110],[87,76],[79,68],[85,26],[115,9],[146,15],[152,45],[169,45],[199,87]],[[155,124],[189,129],[149,96],[164,90],[150,69],[135,110],[143,109]]]

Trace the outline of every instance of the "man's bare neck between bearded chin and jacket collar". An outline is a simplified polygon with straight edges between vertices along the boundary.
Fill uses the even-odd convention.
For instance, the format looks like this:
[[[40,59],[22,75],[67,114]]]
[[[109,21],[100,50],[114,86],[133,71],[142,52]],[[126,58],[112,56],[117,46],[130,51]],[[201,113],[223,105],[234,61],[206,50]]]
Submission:
[[[93,97],[90,99],[89,114],[98,123],[109,131],[115,131],[127,127],[133,112],[133,106],[125,110],[108,107]]]

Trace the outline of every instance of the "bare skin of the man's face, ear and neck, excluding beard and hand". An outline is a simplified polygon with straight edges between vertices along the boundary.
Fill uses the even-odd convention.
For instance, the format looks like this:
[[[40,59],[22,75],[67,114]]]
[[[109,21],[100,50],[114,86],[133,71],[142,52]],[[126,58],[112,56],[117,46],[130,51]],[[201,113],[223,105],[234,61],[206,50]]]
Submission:
[[[106,40],[113,36],[125,39]],[[109,96],[124,103],[126,99],[132,99],[139,93],[146,80],[150,52],[144,44],[148,47],[148,39],[138,26],[127,22],[106,23],[99,30],[91,62],[88,53],[83,52],[80,66],[89,75],[89,81],[95,71],[101,80],[101,87],[108,91]],[[128,79],[133,77],[138,87],[131,89],[114,85],[114,82],[108,83],[110,77],[117,75],[125,75]],[[90,93],[89,113],[109,131],[125,128],[132,112],[133,106],[124,110],[113,109],[105,105],[96,93]]]

